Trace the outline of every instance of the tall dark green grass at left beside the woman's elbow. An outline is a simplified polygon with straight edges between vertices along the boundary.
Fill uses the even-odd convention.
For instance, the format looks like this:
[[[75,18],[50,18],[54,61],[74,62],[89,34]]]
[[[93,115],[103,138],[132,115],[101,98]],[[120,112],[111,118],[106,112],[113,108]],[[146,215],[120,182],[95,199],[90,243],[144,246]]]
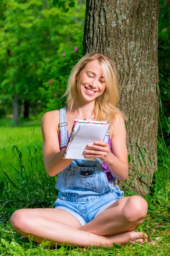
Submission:
[[[35,139],[34,130],[32,137]],[[36,146],[30,148],[25,145],[25,148],[26,156],[23,158],[23,152],[14,144],[11,152],[12,159],[9,158],[9,152],[4,148],[4,154],[9,161],[8,169],[13,170],[13,174],[10,175],[8,169],[4,169],[4,163],[0,163],[1,172],[3,171],[4,174],[4,179],[0,183],[0,195],[3,195],[0,198],[2,211],[4,209],[11,211],[11,206],[15,209],[17,207],[53,207],[53,200],[56,196],[55,179],[45,172],[42,146],[39,147],[36,141]]]

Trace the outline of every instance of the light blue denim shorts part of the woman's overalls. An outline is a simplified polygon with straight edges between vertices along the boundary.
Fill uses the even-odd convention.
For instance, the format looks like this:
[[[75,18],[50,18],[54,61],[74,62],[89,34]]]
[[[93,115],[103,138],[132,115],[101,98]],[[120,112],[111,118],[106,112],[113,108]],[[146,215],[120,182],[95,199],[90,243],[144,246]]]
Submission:
[[[117,187],[119,188],[119,186]],[[84,226],[119,198],[122,198],[122,195],[119,197],[114,190],[105,192],[102,195],[89,195],[85,198],[80,198],[71,193],[66,193],[59,195],[54,203],[54,207],[55,209],[62,209],[70,212],[78,219],[80,224]]]

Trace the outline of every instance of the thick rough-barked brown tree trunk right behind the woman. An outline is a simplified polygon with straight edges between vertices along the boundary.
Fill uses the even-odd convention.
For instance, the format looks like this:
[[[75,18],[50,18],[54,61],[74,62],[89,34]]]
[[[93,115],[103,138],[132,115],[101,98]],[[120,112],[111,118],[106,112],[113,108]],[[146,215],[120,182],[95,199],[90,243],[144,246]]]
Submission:
[[[158,14],[159,0],[86,3],[83,54],[104,52],[116,63],[120,85],[118,108],[125,112],[128,122],[129,179],[136,182],[129,185],[142,195],[152,179],[140,174],[153,177],[157,169]]]

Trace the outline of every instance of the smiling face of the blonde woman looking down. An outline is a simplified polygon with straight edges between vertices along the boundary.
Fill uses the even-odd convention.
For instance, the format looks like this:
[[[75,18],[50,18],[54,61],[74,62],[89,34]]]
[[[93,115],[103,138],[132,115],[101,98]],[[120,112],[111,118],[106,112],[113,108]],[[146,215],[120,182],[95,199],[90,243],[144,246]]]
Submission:
[[[105,90],[105,78],[98,61],[90,61],[77,76],[78,96],[84,101],[93,101]]]

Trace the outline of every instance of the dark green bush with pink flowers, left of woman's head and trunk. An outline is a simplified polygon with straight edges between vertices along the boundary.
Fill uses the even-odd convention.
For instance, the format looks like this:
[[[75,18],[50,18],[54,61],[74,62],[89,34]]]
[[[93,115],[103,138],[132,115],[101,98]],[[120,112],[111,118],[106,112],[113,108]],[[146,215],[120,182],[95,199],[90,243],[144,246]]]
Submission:
[[[45,102],[45,111],[59,109],[63,106],[64,99],[60,99],[60,97],[65,93],[68,76],[82,57],[83,30],[81,28],[82,12],[85,12],[85,6],[83,8],[81,12],[77,13],[76,18],[72,16],[71,12],[67,14],[70,20],[60,30],[65,41],[60,42],[55,58],[46,58],[37,70],[37,75],[42,83],[42,86],[39,87],[40,99]]]

